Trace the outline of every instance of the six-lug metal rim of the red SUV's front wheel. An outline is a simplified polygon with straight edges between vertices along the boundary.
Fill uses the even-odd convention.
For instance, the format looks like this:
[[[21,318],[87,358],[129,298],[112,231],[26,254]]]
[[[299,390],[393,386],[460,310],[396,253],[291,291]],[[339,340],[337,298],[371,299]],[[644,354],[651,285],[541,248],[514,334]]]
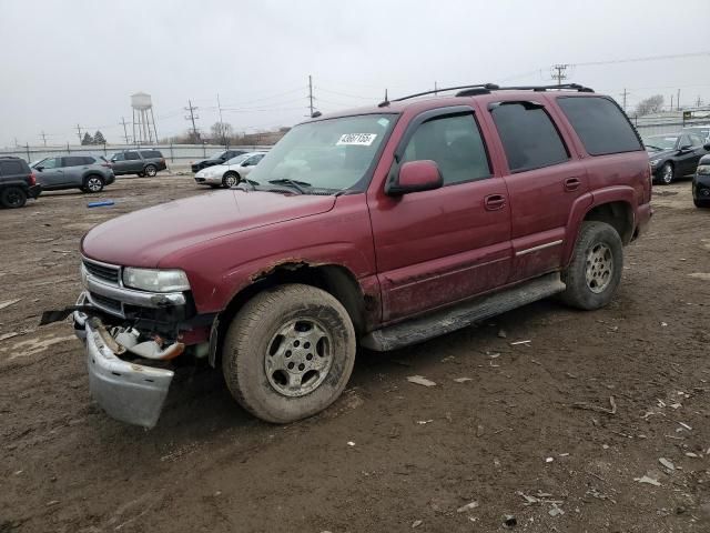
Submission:
[[[333,341],[326,329],[312,319],[286,323],[266,348],[264,370],[277,393],[287,398],[315,391],[333,365]]]

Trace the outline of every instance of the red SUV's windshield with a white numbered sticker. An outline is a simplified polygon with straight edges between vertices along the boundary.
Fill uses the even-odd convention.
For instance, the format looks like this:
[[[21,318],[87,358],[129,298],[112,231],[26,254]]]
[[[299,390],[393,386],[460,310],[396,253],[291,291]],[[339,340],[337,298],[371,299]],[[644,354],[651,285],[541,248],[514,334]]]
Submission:
[[[297,125],[254,168],[248,181],[294,181],[304,192],[349,189],[365,175],[394,122],[392,114],[363,114]]]

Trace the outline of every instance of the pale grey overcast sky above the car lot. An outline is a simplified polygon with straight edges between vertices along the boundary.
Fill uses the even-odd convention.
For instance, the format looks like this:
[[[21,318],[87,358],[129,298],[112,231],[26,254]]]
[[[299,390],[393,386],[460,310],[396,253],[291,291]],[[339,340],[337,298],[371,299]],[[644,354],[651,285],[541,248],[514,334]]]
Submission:
[[[708,0],[0,0],[0,145],[77,142],[77,124],[120,142],[130,94],[152,95],[161,138],[197,127],[292,125],[307,79],[327,112],[476,82],[549,83],[554,63],[710,51],[693,20]],[[677,10],[677,12],[673,12]],[[684,22],[683,22],[684,21]],[[686,30],[683,30],[683,28]],[[629,107],[681,90],[710,102],[710,54],[570,68],[570,81]]]

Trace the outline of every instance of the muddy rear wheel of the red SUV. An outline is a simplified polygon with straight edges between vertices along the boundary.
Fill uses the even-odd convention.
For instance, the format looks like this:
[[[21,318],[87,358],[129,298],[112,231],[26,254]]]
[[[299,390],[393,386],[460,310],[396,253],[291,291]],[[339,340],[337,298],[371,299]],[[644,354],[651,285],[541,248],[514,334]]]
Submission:
[[[623,269],[623,244],[617,230],[606,222],[584,222],[572,260],[562,272],[567,285],[561,300],[574,308],[600,309],[619,286]]]

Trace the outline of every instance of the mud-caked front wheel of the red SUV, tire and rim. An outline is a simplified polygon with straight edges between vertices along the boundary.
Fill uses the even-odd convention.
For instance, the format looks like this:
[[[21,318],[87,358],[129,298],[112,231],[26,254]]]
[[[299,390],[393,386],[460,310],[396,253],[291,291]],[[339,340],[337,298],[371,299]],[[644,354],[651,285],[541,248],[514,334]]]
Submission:
[[[298,324],[305,325],[298,330]],[[308,324],[311,329],[304,329]],[[293,333],[281,335],[284,331]],[[315,342],[321,334],[327,339]],[[345,389],[354,363],[355,330],[347,311],[333,295],[303,284],[256,294],[230,324],[222,350],[232,395],[250,413],[273,423],[326,409]],[[323,372],[313,370],[316,365]]]

